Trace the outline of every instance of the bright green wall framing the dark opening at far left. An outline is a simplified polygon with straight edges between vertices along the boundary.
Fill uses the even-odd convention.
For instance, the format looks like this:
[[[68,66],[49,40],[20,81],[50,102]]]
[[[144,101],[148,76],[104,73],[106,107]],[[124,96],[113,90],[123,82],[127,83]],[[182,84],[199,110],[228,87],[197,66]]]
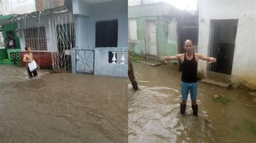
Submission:
[[[13,27],[12,27],[13,26]],[[5,24],[2,25],[2,31],[3,31],[3,37],[6,37],[6,31],[12,31],[14,30],[14,37],[15,37],[15,45],[16,45],[16,49],[21,49],[21,45],[19,44],[19,38],[16,35],[16,28],[18,28],[18,23],[14,23],[12,24]]]

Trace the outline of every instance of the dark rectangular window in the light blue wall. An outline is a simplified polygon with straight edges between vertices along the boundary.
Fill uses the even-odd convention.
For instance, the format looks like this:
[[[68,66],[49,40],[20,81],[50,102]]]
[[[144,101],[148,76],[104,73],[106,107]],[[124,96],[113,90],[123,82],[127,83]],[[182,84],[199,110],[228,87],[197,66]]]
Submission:
[[[96,23],[95,47],[117,47],[118,20]]]

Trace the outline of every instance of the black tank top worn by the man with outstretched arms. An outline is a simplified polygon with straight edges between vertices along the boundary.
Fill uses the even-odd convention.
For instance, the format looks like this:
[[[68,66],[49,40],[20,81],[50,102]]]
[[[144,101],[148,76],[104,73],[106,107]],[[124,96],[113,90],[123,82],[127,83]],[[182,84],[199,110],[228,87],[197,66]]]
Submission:
[[[193,53],[193,58],[187,60],[186,53],[184,53],[184,61],[181,63],[181,81],[186,83],[198,82],[197,78],[197,60],[196,56]]]

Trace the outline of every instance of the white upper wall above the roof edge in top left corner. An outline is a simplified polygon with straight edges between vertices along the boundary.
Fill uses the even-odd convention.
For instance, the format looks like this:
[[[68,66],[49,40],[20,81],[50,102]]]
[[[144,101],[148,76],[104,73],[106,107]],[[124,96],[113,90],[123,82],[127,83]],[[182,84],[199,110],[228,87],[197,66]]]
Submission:
[[[24,14],[36,11],[35,0],[1,1],[2,15]]]

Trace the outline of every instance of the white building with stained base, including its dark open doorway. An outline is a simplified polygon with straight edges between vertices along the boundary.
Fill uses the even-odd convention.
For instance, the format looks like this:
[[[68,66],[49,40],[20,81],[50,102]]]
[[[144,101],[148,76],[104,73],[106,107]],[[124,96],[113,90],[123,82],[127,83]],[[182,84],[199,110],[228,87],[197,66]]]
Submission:
[[[204,75],[227,75],[235,87],[256,87],[255,0],[199,1],[198,52],[217,63],[199,62]]]

